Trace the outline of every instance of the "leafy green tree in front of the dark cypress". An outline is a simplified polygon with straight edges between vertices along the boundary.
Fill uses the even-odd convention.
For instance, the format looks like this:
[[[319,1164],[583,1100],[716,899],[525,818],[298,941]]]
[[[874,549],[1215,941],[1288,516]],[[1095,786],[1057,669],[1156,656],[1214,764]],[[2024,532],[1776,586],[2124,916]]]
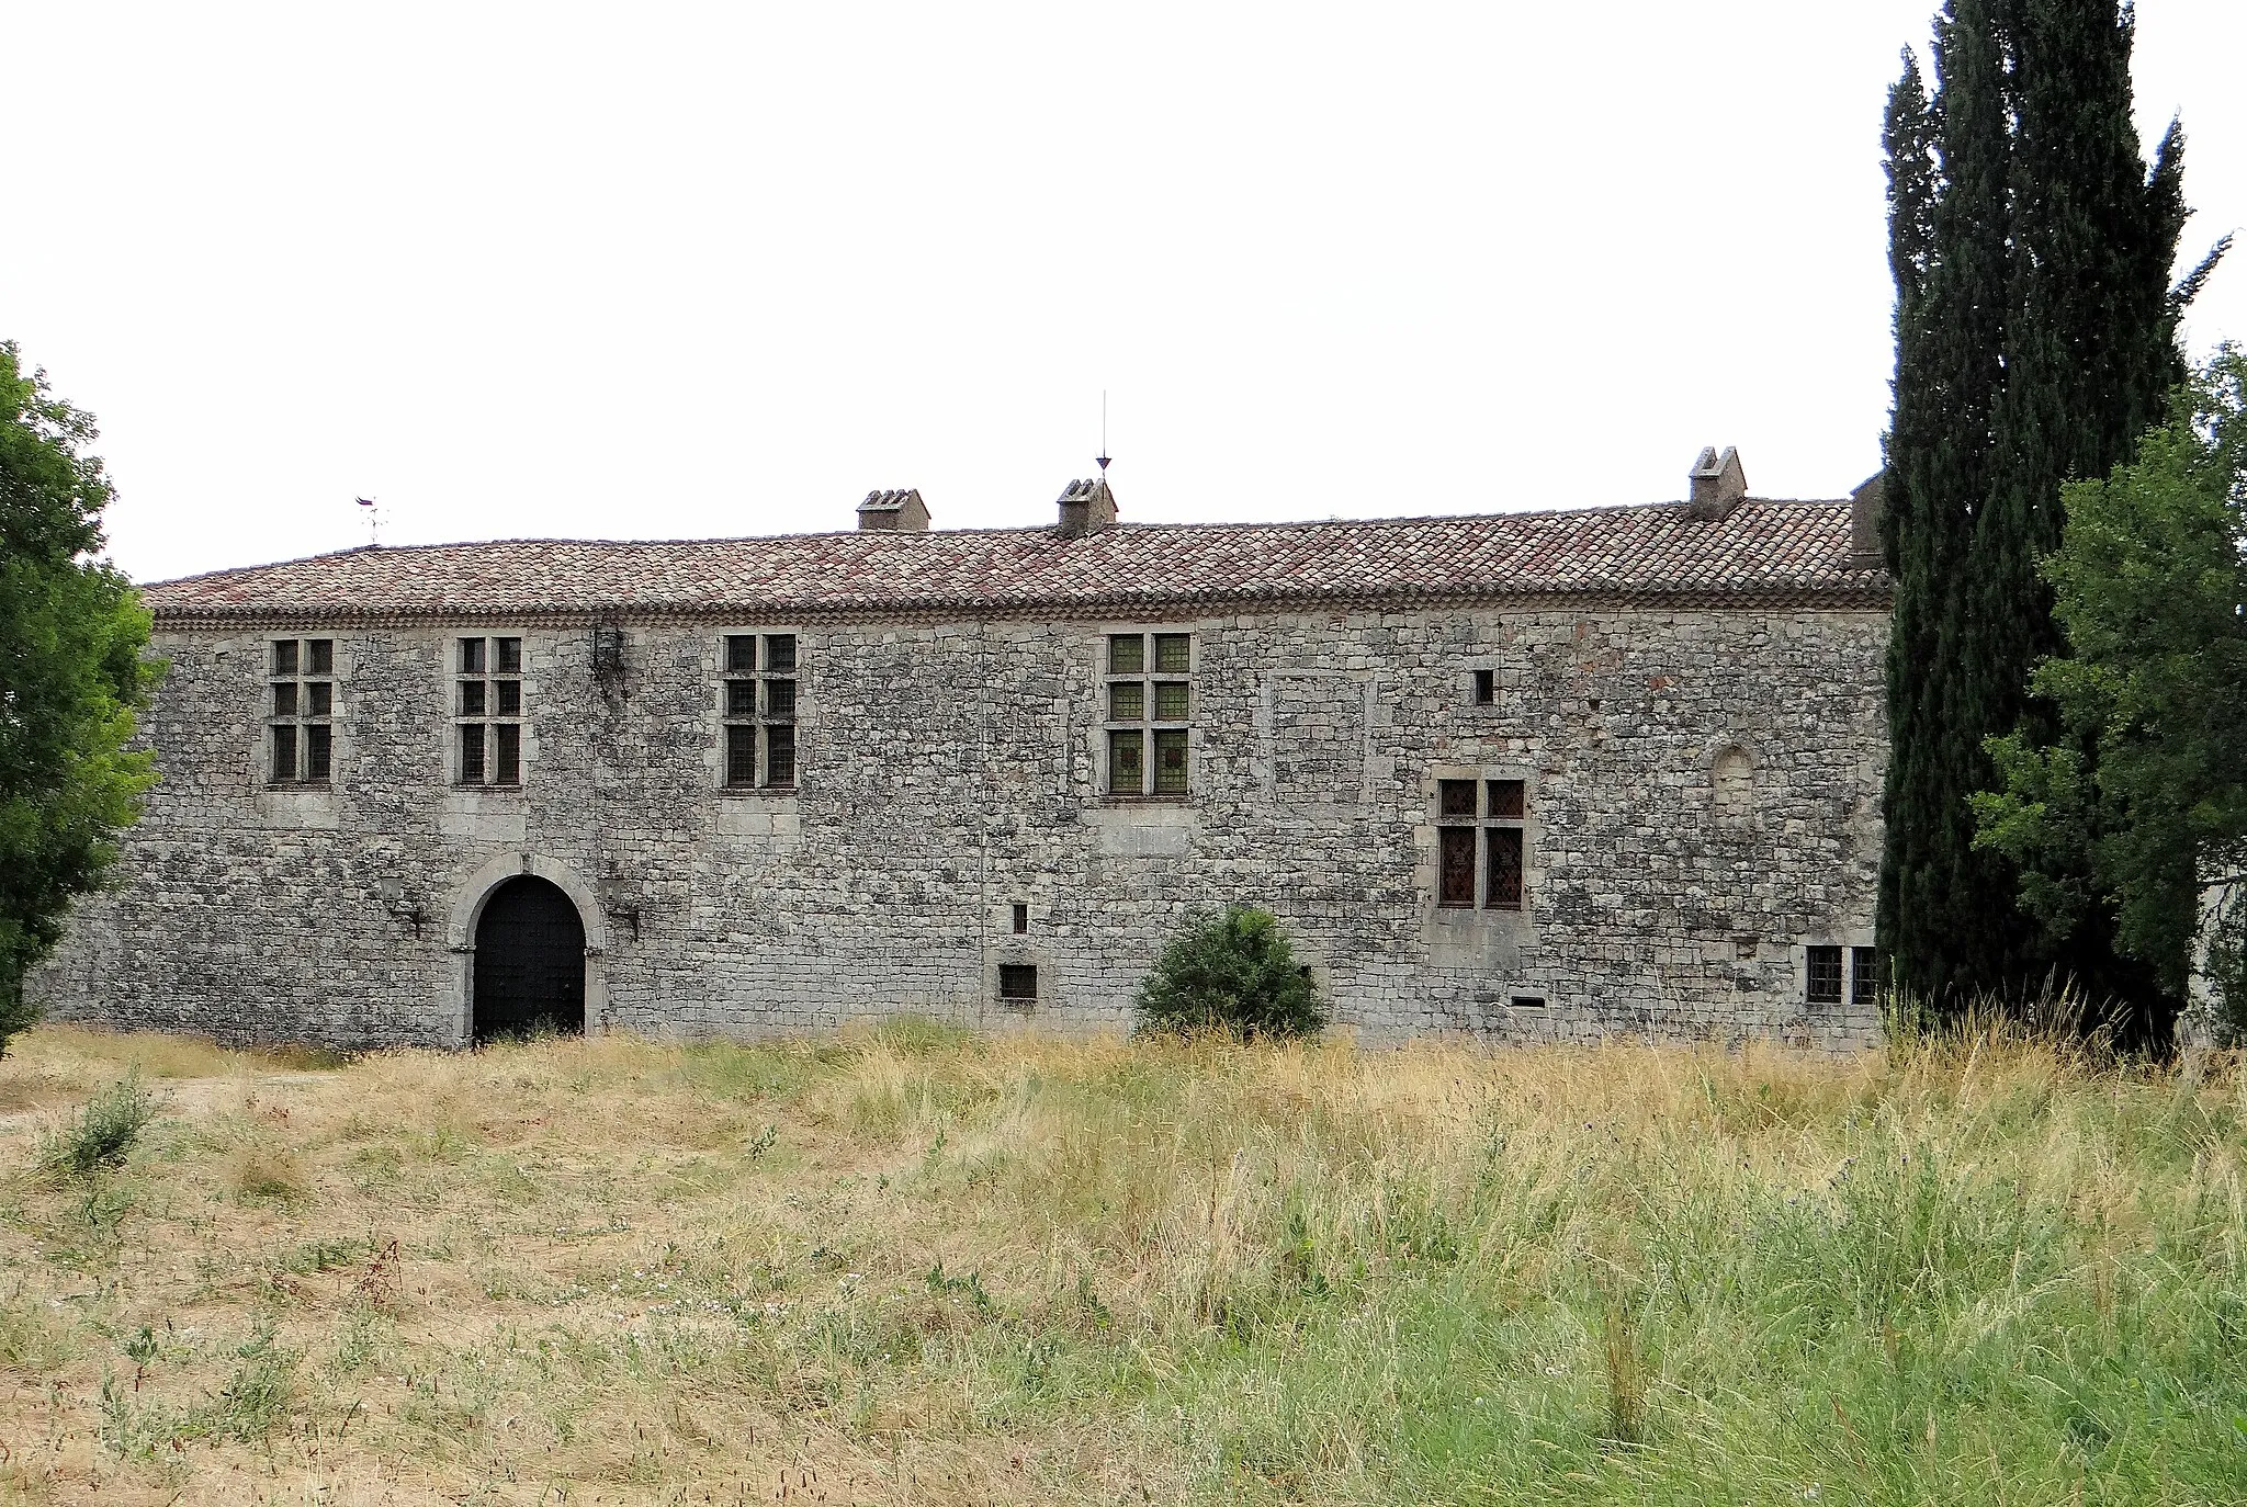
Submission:
[[[2247,353],[2218,353],[2137,460],[2065,505],[2040,566],[2065,654],[2031,681],[2058,737],[1991,739],[2004,788],[1975,797],[1977,840],[2049,930],[2112,907],[2117,946],[2182,995],[2202,883],[2247,869]]]

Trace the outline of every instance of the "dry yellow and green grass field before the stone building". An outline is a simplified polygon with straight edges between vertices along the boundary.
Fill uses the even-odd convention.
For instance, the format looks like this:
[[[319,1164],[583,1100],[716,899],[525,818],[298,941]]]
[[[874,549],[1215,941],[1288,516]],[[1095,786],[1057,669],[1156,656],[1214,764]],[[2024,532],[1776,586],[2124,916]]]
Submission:
[[[1993,1033],[45,1029],[0,1500],[2238,1503],[2243,1121]]]

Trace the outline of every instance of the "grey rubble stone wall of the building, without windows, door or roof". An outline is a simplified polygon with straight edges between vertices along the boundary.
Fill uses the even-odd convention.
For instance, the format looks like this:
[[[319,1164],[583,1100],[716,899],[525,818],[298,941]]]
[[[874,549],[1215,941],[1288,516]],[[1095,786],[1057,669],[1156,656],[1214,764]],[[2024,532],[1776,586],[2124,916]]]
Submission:
[[[279,631],[160,633],[162,784],[36,990],[63,1017],[227,1040],[454,1044],[476,907],[537,871],[586,921],[595,1029],[1126,1026],[1180,916],[1243,898],[1364,1040],[1872,1038],[1870,1008],[1804,1004],[1804,946],[1872,941],[1881,613],[1159,624],[1193,631],[1186,802],[1099,795],[1103,636],[1157,624],[730,631],[791,627],[786,795],[719,788],[728,624],[627,622],[607,683],[591,627],[472,629],[524,638],[521,791],[447,786],[452,629],[330,633],[328,791],[263,779]],[[1744,800],[1712,775],[1732,748]],[[1470,775],[1528,782],[1519,914],[1434,903],[1436,782]],[[1038,966],[1031,1011],[998,1002],[1013,961]]]

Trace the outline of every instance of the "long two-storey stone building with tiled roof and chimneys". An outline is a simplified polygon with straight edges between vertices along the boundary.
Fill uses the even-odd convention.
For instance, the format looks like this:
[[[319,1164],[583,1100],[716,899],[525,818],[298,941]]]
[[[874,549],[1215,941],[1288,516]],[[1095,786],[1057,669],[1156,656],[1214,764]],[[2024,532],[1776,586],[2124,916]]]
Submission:
[[[1193,907],[1337,1020],[1874,1031],[1890,584],[1640,508],[362,548],[151,586],[162,782],[36,990],[229,1040],[1124,1026]]]

